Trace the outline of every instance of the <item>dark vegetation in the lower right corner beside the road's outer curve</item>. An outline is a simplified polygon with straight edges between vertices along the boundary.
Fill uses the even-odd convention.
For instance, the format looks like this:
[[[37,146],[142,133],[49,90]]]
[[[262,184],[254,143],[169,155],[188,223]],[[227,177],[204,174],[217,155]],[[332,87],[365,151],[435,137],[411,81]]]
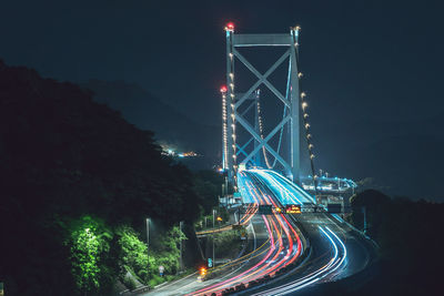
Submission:
[[[354,290],[337,286],[337,295],[441,295],[436,276],[444,263],[440,231],[444,204],[392,198],[374,190],[353,196],[351,202],[350,218],[360,229],[364,228],[365,207],[366,234],[380,246],[380,258],[365,284]]]

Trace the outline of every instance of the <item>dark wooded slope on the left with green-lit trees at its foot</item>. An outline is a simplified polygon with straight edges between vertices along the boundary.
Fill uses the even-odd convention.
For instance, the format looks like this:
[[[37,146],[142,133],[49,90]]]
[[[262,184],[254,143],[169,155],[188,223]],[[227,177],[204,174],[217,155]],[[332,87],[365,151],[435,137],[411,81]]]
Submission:
[[[111,295],[118,280],[134,288],[171,279],[186,241],[179,223],[193,225],[216,205],[220,176],[161,155],[151,132],[91,95],[0,61],[7,295]]]

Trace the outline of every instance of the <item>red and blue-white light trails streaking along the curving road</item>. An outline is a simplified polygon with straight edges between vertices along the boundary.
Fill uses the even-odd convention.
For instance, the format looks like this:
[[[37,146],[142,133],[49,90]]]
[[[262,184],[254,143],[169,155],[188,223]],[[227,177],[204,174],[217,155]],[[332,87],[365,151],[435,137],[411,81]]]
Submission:
[[[281,200],[283,194],[290,196],[292,202],[299,201],[299,203],[301,203],[303,200],[309,200],[309,197],[311,198],[309,194],[300,193],[299,191],[302,190],[290,184],[290,182],[284,177],[272,171],[252,170],[241,172],[239,175],[239,184],[242,186],[243,193],[249,194],[254,200],[255,204],[271,204],[274,207],[278,207],[279,205],[274,200]],[[272,195],[270,195],[269,192]],[[261,261],[236,276],[220,283],[215,283],[189,295],[210,295],[212,293],[221,295],[225,288],[238,286],[241,283],[248,287],[250,282],[261,278],[265,275],[273,276],[280,268],[293,263],[300,256],[302,252],[302,242],[297,235],[297,232],[287,221],[285,215],[273,213],[272,216],[262,215],[262,218],[270,237],[268,241],[270,245],[268,248],[256,254],[256,256],[260,256],[266,252]],[[334,276],[334,273],[339,268],[344,267],[344,262],[347,256],[344,243],[329,227],[319,226],[317,229],[330,245],[329,252],[332,255],[327,262],[320,266],[316,271],[311,272],[310,274],[300,277],[296,280],[254,295],[291,294],[321,280],[325,280],[325,277]],[[295,238],[294,241],[293,237]],[[284,238],[287,238],[287,243],[284,242]],[[251,257],[248,258],[245,255],[245,259],[240,261],[238,264],[250,259]]]

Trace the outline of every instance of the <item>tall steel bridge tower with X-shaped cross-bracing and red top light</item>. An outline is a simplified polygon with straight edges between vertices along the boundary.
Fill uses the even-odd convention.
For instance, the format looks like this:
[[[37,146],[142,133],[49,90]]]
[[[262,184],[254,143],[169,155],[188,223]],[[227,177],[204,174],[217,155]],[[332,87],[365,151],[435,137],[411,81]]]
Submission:
[[[249,162],[254,162],[261,150],[266,150],[272,157],[275,159],[283,167],[286,176],[293,182],[300,183],[300,112],[301,112],[301,92],[300,76],[297,70],[297,37],[299,27],[291,28],[286,34],[235,34],[234,24],[229,23],[225,27],[226,32],[226,88],[222,92],[223,98],[223,169],[228,172],[230,181],[236,186],[236,173],[239,165],[246,165]],[[287,50],[278,59],[274,64],[264,73],[261,74],[252,63],[250,63],[239,51],[238,48],[243,47],[284,47]],[[268,78],[281,65],[289,60],[289,71],[286,80],[286,93],[282,94]],[[258,81],[248,89],[245,93],[235,92],[235,72],[234,62],[239,61],[246,67],[256,78]],[[265,85],[278,100],[282,101],[284,108],[290,112],[283,116],[280,123],[268,134],[261,136],[256,129],[256,122],[249,123],[248,120],[239,112],[241,104],[258,95],[256,90]],[[255,142],[251,153],[244,151],[244,146],[236,143],[236,125],[244,127]],[[279,151],[275,151],[269,144],[269,141],[281,131],[285,124],[290,126],[290,160],[284,160]],[[251,140],[250,140],[251,141]],[[250,142],[249,141],[249,142]],[[238,163],[238,155],[242,153],[245,159]]]

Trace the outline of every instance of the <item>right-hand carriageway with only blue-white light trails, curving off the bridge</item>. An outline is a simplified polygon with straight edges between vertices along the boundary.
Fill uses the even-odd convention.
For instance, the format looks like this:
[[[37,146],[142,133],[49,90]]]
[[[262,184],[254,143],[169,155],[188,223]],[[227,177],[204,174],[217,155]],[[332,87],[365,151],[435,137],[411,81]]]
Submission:
[[[248,172],[281,204],[314,202],[313,197],[273,171]],[[302,213],[292,215],[310,241],[310,256],[295,269],[261,287],[236,295],[286,295],[315,283],[349,277],[365,268],[375,256],[372,242],[354,231],[337,215]]]

